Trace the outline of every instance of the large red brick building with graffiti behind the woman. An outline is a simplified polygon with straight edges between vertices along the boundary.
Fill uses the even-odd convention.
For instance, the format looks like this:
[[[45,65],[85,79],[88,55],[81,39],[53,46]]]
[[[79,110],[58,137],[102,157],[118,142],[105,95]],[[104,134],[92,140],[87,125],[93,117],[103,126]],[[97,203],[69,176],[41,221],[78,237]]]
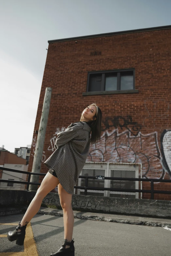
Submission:
[[[128,172],[135,165],[145,180],[143,189],[150,189],[149,178],[170,180],[171,26],[48,43],[35,122],[38,130],[45,89],[51,87],[42,162],[54,151],[56,134],[79,121],[82,110],[96,102],[103,114],[103,131],[101,142],[91,146],[87,162],[120,164],[117,172],[110,172],[114,177],[135,177]],[[34,134],[29,171],[36,139]],[[42,164],[41,172],[47,171]],[[134,188],[130,182],[114,184]],[[171,190],[171,184],[159,181],[154,189]],[[115,196],[126,197],[123,193]],[[141,198],[150,199],[150,194],[143,193]],[[154,194],[154,199],[171,200],[171,195]]]

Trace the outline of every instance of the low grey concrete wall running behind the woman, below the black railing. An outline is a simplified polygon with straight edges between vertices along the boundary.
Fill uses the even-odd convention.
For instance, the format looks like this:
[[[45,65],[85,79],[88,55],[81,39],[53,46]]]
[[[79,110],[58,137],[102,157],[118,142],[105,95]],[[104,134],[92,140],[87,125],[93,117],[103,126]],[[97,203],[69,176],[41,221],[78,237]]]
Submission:
[[[0,190],[0,207],[29,204],[36,191]],[[43,203],[60,207],[58,193],[49,193]],[[123,215],[171,218],[171,201],[73,195],[73,210]]]

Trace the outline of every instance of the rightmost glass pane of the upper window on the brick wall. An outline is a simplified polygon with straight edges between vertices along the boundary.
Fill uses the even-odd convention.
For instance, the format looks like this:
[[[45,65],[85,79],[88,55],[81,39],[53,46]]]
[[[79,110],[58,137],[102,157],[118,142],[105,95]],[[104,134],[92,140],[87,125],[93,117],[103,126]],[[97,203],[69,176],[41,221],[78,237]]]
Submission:
[[[133,72],[121,72],[121,90],[131,90],[133,86]]]

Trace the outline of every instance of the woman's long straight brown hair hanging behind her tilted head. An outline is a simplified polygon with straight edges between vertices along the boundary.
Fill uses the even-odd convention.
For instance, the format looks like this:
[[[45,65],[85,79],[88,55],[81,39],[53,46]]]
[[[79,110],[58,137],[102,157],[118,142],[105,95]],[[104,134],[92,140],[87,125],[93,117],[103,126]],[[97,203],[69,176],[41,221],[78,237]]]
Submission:
[[[90,121],[90,128],[92,129],[91,144],[94,144],[94,143],[100,142],[102,111],[95,103],[89,105],[88,107],[90,107],[90,106],[96,107],[96,114],[93,117],[93,119],[94,118],[96,118],[96,119],[93,121]],[[83,111],[82,111],[82,113],[83,113]],[[82,113],[81,113],[80,121],[82,121],[82,119],[83,119]]]

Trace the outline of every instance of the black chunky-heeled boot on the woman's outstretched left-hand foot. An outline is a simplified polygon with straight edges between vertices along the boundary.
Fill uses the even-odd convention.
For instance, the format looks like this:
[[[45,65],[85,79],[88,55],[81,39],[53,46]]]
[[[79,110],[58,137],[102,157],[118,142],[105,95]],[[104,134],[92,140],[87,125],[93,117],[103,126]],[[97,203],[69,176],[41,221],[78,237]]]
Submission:
[[[8,240],[10,242],[13,242],[13,241],[16,240],[16,245],[23,245],[25,235],[26,235],[26,226],[27,225],[21,227],[20,223],[19,223],[14,231],[9,231],[8,232],[8,235],[7,235]],[[21,229],[21,231],[17,232],[18,229]]]

